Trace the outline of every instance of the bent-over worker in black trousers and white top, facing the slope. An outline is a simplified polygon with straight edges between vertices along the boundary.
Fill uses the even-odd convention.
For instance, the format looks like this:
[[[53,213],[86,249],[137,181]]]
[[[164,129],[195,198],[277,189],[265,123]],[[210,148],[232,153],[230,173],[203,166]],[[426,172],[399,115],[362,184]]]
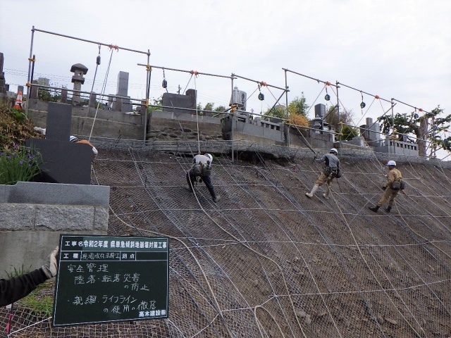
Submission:
[[[216,195],[213,184],[211,184],[211,163],[213,162],[213,156],[211,154],[197,154],[192,160],[192,167],[186,173],[186,180],[188,187],[186,189],[193,191],[194,181],[197,177],[200,177],[206,185],[206,189],[209,189],[211,199],[216,203],[221,199],[221,196]]]

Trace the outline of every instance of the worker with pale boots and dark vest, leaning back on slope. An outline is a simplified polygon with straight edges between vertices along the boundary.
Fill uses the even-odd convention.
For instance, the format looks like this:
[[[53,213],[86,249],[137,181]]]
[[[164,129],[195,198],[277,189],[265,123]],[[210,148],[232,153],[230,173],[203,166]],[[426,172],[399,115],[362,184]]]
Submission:
[[[324,162],[323,172],[319,175],[316,180],[311,192],[306,192],[305,196],[311,199],[314,194],[316,194],[316,190],[326,183],[326,192],[323,194],[325,199],[329,199],[330,194],[330,183],[335,177],[340,177],[340,160],[337,157],[338,151],[335,148],[330,149],[329,154],[324,154],[321,158],[318,158],[315,154],[315,161],[318,163]]]

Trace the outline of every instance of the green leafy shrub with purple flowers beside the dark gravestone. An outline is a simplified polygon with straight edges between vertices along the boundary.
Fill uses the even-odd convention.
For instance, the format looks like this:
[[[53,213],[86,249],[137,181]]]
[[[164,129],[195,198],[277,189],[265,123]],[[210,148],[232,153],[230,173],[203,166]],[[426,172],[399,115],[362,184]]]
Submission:
[[[0,151],[0,184],[28,182],[41,172],[41,154],[25,146],[13,146],[13,149]]]

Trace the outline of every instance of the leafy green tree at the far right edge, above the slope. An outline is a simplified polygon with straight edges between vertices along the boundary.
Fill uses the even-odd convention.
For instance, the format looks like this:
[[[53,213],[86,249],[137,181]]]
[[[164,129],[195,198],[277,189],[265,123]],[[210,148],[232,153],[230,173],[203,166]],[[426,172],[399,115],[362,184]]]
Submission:
[[[451,151],[451,137],[445,137],[443,132],[450,128],[451,115],[438,118],[443,113],[443,108],[438,105],[430,113],[419,116],[417,113],[396,113],[395,115],[382,115],[377,121],[381,123],[381,131],[391,134],[400,141],[407,141],[409,134],[414,134],[418,144],[419,156],[426,156],[427,142],[431,157],[435,151],[445,149]],[[431,120],[431,121],[430,121]]]

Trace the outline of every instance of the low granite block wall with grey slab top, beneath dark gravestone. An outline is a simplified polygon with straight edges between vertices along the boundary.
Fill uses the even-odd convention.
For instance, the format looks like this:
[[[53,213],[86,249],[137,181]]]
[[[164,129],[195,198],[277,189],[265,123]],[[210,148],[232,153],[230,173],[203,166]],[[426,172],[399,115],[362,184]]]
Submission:
[[[44,264],[60,234],[106,234],[109,187],[0,185],[0,277]]]

